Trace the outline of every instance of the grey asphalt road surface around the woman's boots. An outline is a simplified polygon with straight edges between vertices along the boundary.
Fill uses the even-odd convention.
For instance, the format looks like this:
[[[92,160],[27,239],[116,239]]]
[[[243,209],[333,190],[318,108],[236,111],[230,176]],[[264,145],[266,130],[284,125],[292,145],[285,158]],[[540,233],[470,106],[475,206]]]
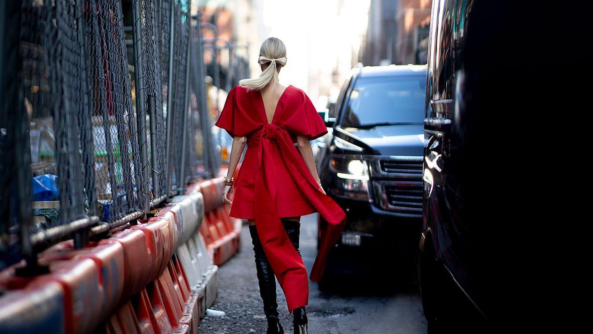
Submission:
[[[307,271],[317,254],[317,214],[301,218],[300,248]],[[213,310],[222,317],[206,317],[200,333],[265,333],[266,319],[257,285],[253,246],[247,225],[241,234],[241,251],[220,267],[218,298]],[[409,270],[409,269],[407,269]],[[400,284],[401,285],[401,284]],[[278,311],[286,333],[292,333],[282,289],[277,285]],[[344,277],[336,291],[327,294],[309,282],[306,307],[310,333],[426,333],[426,320],[417,285],[394,286],[389,280]]]

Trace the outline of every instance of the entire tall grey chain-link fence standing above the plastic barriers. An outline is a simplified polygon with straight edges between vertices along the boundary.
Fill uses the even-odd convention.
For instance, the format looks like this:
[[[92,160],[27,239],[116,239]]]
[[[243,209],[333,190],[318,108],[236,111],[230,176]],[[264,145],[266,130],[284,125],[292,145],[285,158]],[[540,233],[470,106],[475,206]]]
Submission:
[[[0,269],[213,177],[189,0],[0,4]],[[192,25],[192,21],[194,24]]]

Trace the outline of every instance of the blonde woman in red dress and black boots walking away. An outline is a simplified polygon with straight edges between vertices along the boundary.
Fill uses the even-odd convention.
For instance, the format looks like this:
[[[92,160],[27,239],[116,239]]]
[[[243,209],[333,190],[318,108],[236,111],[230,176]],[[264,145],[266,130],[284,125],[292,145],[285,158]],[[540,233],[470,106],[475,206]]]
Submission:
[[[330,247],[342,233],[346,214],[321,188],[309,143],[327,133],[326,125],[307,94],[278,82],[286,64],[284,43],[266,39],[258,62],[262,74],[241,80],[229,91],[216,121],[233,137],[223,200],[232,204],[230,216],[249,222],[267,333],[284,332],[276,310],[274,276],[293,313],[294,332],[307,333],[309,290],[299,251],[300,218],[319,212],[328,222],[311,270],[310,279],[316,282]],[[232,175],[246,144],[235,183]]]

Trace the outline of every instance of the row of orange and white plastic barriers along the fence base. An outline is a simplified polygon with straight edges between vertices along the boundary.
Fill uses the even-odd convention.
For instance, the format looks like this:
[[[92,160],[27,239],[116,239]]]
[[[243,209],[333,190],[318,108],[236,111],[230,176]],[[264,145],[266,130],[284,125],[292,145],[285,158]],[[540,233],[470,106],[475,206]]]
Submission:
[[[48,248],[39,259],[50,273],[0,272],[0,332],[197,333],[218,291],[213,261],[237,251],[241,220],[221,203],[221,178],[189,189],[109,238]]]

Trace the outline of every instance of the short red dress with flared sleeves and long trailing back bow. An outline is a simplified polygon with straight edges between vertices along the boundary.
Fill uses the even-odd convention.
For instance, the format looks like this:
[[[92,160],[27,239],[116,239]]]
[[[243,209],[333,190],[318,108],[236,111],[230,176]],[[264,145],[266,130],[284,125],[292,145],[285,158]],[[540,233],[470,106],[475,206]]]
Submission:
[[[297,135],[309,140],[323,136],[326,125],[307,94],[291,85],[280,96],[271,124],[259,90],[233,87],[216,126],[231,137],[247,137],[229,215],[255,219],[264,252],[292,312],[308,304],[307,271],[280,218],[319,212],[327,221],[311,270],[314,282],[321,278],[327,253],[346,223],[346,213],[321,191],[294,145]]]

